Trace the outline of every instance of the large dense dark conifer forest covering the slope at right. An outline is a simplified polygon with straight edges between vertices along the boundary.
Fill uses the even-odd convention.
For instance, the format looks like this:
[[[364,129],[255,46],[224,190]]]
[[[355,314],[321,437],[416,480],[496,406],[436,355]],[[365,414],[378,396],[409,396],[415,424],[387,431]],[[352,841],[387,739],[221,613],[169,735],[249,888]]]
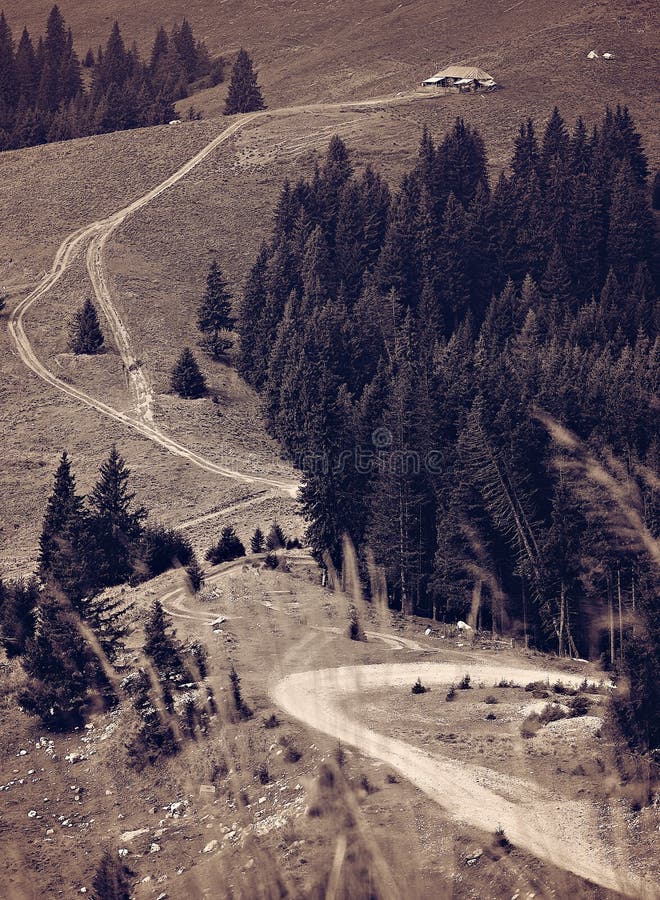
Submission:
[[[347,536],[393,607],[612,665],[633,609],[657,629],[617,505],[657,530],[646,179],[617,108],[591,133],[556,109],[540,140],[525,122],[494,189],[462,120],[424,133],[394,195],[338,138],[285,184],[238,365],[303,471],[319,560],[340,569]]]

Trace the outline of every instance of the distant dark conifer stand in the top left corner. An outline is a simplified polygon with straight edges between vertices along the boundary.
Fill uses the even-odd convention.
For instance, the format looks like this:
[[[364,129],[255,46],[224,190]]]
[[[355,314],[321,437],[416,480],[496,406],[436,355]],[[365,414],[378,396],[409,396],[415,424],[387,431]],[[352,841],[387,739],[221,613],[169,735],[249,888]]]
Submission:
[[[186,19],[158,29],[148,61],[127,49],[117,22],[82,66],[73,45],[57,6],[36,47],[27,28],[16,45],[0,14],[0,150],[164,124],[177,100],[224,78],[222,58],[210,58]]]

